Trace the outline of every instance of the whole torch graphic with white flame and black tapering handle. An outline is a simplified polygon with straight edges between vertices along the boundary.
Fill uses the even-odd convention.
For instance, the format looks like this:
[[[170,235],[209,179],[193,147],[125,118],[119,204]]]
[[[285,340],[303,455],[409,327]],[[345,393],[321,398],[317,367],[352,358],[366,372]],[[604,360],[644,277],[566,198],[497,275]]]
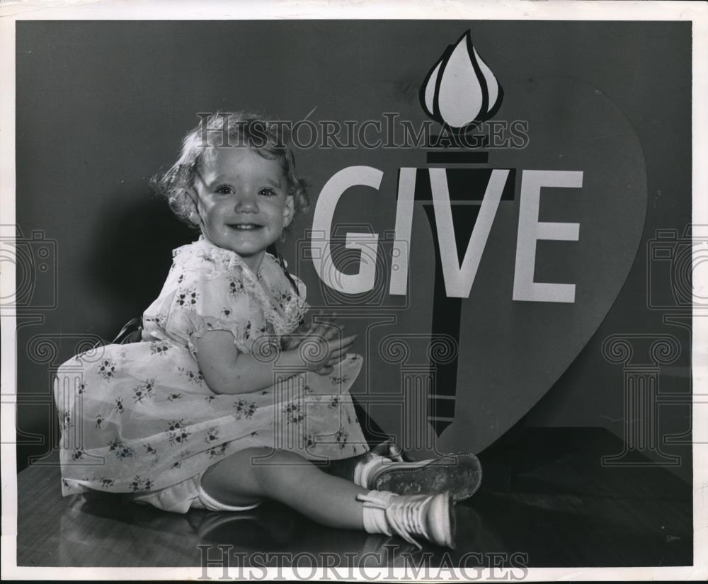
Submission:
[[[472,165],[487,164],[489,161],[489,153],[480,150],[489,145],[488,125],[483,122],[496,114],[503,99],[501,85],[472,45],[469,30],[455,45],[448,46],[430,69],[421,88],[420,99],[423,110],[442,125],[440,135],[429,138],[427,168],[416,168],[415,187],[415,200],[426,212],[435,244],[431,337],[454,338],[459,346],[462,298],[448,295],[442,258],[445,254],[447,257],[452,254],[453,257],[467,259],[465,245],[470,241],[487,185],[495,170]],[[452,250],[441,244],[439,218],[435,217],[433,190],[439,189],[440,183],[433,176],[440,176],[440,168],[450,197],[455,232],[455,245],[452,247],[456,248]],[[506,170],[508,175],[501,200],[513,200],[515,169]],[[490,226],[487,225],[486,229]],[[481,251],[476,250],[478,257]],[[435,384],[428,394],[427,420],[438,437],[455,420],[458,357],[459,351],[456,351],[455,357],[450,360],[436,362],[430,359],[430,377],[435,379]]]

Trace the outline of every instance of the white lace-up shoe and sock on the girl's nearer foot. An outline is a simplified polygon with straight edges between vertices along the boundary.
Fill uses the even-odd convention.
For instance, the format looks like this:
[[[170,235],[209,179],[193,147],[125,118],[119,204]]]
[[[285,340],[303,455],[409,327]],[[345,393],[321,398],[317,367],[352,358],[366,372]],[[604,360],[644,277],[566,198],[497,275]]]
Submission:
[[[364,528],[368,533],[397,535],[421,549],[413,536],[433,544],[455,548],[455,509],[448,493],[439,495],[396,495],[370,491],[358,495],[364,503]]]

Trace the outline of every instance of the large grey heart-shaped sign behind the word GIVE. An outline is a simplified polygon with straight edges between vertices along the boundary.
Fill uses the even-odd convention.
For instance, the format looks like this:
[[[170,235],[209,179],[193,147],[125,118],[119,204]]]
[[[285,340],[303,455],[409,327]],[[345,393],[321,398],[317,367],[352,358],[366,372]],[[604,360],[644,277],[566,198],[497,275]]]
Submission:
[[[501,86],[477,65],[484,91],[456,108],[459,94],[445,89],[451,53],[447,69],[428,74],[426,113],[449,115],[453,127],[475,113],[489,118]],[[402,115],[414,105],[396,104]],[[525,139],[499,142],[487,130],[481,146],[460,148],[457,134],[452,145],[358,151],[358,164],[331,173],[317,202],[315,232],[340,235],[361,231],[347,226],[377,207],[358,272],[332,277],[319,263],[318,275],[324,296],[388,294],[376,310],[358,304],[352,314],[367,331],[361,399],[421,455],[479,452],[539,401],[610,310],[644,227],[639,139],[603,91],[568,76],[506,79],[502,114]],[[379,232],[392,235],[393,252],[367,280],[364,252],[382,261]]]

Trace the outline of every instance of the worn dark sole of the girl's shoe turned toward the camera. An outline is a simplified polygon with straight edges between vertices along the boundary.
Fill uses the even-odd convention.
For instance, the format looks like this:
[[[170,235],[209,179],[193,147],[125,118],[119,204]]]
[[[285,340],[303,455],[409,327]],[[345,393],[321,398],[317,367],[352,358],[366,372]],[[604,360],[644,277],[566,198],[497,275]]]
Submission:
[[[479,489],[481,480],[482,467],[474,454],[448,454],[418,469],[387,469],[384,466],[375,476],[374,488],[399,495],[448,492],[457,502],[472,497]]]

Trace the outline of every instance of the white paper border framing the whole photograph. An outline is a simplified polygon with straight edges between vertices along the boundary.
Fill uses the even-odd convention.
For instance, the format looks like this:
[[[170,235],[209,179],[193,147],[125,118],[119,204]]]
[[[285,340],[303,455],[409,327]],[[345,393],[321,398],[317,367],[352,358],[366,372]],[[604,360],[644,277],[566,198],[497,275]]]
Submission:
[[[25,1],[0,4],[0,224],[15,223],[15,25],[29,20],[519,20],[519,21],[692,21],[692,223],[708,224],[708,4],[691,1]],[[703,58],[702,58],[703,57]],[[694,268],[696,266],[694,265]],[[15,273],[0,278],[2,297],[13,294]],[[695,270],[694,290],[706,290],[708,277]],[[705,294],[703,294],[705,295]],[[16,319],[1,321],[1,481],[2,578],[46,580],[198,579],[202,568],[42,568],[16,566]],[[525,580],[706,580],[708,578],[708,326],[694,314],[693,376],[693,566],[650,568],[528,568]],[[219,579],[222,568],[210,568]],[[355,574],[357,571],[355,571]],[[405,568],[382,568],[382,578],[410,577]],[[459,573],[459,571],[458,571]],[[482,571],[490,576],[489,568]],[[375,570],[358,573],[371,580]],[[259,574],[260,576],[260,574]],[[287,568],[268,569],[268,578],[290,576]],[[323,576],[322,570],[315,578]],[[329,573],[331,577],[331,573]],[[464,578],[459,578],[464,579]]]

